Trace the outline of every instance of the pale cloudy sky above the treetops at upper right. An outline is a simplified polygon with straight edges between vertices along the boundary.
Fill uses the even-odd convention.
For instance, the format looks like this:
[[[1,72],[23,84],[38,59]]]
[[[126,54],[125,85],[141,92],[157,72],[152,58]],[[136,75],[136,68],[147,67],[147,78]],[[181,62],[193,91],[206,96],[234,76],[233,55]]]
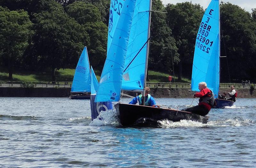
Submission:
[[[200,4],[204,8],[207,8],[208,4],[210,4],[211,0],[162,0],[163,4],[176,4],[181,2],[190,2],[193,4]],[[246,11],[252,11],[252,8],[256,8],[256,0],[222,0],[223,2],[230,2],[231,4],[236,4],[241,6]]]

